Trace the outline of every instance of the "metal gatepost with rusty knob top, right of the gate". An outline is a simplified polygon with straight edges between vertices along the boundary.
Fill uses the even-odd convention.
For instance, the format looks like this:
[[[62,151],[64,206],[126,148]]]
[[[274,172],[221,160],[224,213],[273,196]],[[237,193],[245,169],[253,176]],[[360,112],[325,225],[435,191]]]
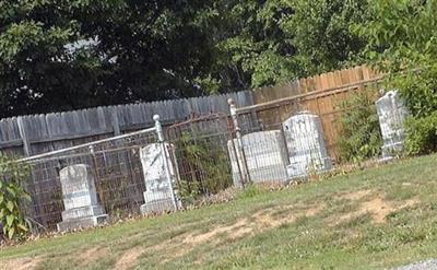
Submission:
[[[235,136],[237,140],[237,148],[236,148],[236,153],[235,157],[237,160],[237,165],[238,168],[241,171],[241,186],[245,187],[247,183],[250,180],[249,176],[249,169],[247,168],[247,162],[246,162],[246,155],[245,155],[245,150],[243,148],[243,139],[241,139],[241,130],[238,126],[238,114],[237,114],[237,107],[235,105],[235,102],[233,98],[227,99],[227,104],[229,105],[229,110],[231,110],[231,117],[233,119],[234,124],[234,129],[235,129]],[[234,139],[232,139],[234,140]]]

